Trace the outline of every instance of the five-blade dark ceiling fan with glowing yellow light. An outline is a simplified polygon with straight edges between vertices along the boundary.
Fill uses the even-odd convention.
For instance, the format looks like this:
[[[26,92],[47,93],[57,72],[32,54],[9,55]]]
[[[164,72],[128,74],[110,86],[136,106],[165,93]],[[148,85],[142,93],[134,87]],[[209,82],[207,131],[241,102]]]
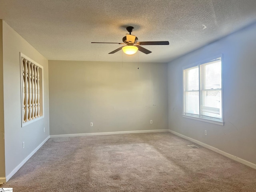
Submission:
[[[141,41],[141,42],[139,42],[138,38],[131,34],[133,29],[134,29],[134,27],[132,27],[132,26],[129,26],[126,28],[126,30],[129,32],[129,34],[126,34],[126,36],[123,37],[123,43],[112,43],[112,44],[120,44],[120,45],[124,45],[124,46],[110,52],[109,54],[118,52],[121,49],[124,51],[124,53],[126,53],[128,55],[132,55],[132,54],[136,53],[137,50],[139,50],[145,54],[149,54],[149,53],[151,53],[151,51],[145,49],[144,47],[142,47],[140,45],[169,45],[168,41]],[[110,43],[110,42],[92,42],[92,43]]]

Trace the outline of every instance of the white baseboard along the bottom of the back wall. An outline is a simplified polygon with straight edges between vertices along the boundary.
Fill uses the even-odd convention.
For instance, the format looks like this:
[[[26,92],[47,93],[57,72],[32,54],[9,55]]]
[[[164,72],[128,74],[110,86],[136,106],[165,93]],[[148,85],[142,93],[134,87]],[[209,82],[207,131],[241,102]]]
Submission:
[[[169,131],[168,129],[160,129],[160,130],[116,131],[116,132],[101,132],[101,133],[79,133],[79,134],[50,135],[50,138],[92,136],[92,135],[114,135],[114,134],[128,134],[128,133],[153,133],[153,132],[168,132],[168,131]]]

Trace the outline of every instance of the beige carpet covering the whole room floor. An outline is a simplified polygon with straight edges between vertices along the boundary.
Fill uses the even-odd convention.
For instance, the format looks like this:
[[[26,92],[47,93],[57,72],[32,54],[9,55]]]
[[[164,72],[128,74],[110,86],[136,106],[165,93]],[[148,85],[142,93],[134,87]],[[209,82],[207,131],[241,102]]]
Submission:
[[[51,138],[14,192],[256,192],[256,170],[170,133]],[[198,145],[197,145],[198,146]]]

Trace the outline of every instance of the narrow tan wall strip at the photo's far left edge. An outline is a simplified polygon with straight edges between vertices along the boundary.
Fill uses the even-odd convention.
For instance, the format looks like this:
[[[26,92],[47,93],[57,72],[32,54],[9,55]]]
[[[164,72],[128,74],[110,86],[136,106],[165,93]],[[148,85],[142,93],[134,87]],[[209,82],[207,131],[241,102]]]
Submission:
[[[3,82],[3,20],[0,20],[0,183],[5,182],[4,158],[4,82]],[[2,179],[1,179],[2,178]]]

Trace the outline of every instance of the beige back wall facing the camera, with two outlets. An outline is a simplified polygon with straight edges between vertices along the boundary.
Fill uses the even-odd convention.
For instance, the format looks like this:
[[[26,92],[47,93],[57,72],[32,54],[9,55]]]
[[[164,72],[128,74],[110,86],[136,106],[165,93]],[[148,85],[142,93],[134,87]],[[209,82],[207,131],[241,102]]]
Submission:
[[[168,129],[167,64],[139,66],[49,60],[50,135]]]

